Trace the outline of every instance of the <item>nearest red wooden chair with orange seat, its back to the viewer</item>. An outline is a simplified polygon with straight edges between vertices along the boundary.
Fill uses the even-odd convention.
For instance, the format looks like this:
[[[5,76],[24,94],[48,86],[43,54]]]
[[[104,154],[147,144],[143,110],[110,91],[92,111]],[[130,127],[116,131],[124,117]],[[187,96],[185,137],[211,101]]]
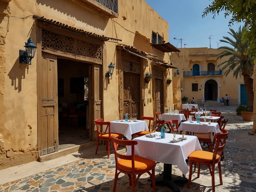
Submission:
[[[155,192],[156,162],[134,154],[134,146],[137,145],[137,141],[135,140],[122,140],[112,136],[112,143],[114,146],[114,155],[116,161],[113,192],[116,191],[117,180],[120,173],[128,175],[129,184],[132,186],[132,192],[135,192],[135,186],[139,181],[139,177],[144,173],[148,173],[152,179],[153,192]],[[117,151],[117,147],[119,145],[131,146],[131,155],[123,155],[122,153],[119,153],[119,151]]]

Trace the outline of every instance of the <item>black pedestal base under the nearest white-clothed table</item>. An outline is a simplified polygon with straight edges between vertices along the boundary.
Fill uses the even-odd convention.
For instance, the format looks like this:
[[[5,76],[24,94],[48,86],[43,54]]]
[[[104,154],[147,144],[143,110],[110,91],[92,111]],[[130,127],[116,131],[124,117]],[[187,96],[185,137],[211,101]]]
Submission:
[[[187,178],[185,177],[171,178],[171,164],[164,164],[164,172],[155,178],[156,185],[168,185],[174,192],[180,192],[176,184],[184,185],[185,183],[187,183]]]

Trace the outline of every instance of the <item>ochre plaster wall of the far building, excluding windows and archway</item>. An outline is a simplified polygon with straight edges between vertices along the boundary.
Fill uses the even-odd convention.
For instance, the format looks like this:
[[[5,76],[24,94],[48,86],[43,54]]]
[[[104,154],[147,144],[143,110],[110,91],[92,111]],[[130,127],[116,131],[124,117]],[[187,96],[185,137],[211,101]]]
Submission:
[[[201,66],[203,66],[203,71],[207,71],[208,63],[215,64],[215,71],[222,69],[222,67],[218,65],[228,59],[227,57],[217,59],[217,55],[221,53],[222,50],[208,48],[185,48],[185,50],[184,48],[181,48],[180,50],[181,52],[179,57],[175,54],[172,55],[172,62],[174,63],[174,66],[178,67],[180,70],[181,87],[183,88],[181,97],[188,97],[188,103],[190,103],[192,97],[194,97],[196,103],[201,104],[201,100],[204,98],[203,88],[205,86],[205,82],[212,79],[217,82],[219,87],[218,98],[225,98],[225,95],[228,94],[230,99],[229,104],[238,104],[238,87],[240,84],[243,84],[244,81],[243,78],[239,76],[237,79],[233,78],[232,72],[229,73],[228,76],[224,75],[224,70],[222,73],[223,75],[221,76],[183,77],[183,71],[192,71],[194,64],[199,64],[200,71]],[[192,83],[198,83],[198,91],[192,91]]]

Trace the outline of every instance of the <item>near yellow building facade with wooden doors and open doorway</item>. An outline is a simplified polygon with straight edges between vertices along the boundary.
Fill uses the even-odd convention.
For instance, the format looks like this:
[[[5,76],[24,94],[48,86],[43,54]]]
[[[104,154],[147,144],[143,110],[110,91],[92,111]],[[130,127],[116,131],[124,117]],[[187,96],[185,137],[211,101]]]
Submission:
[[[169,24],[144,0],[0,2],[0,169],[81,149],[60,149],[61,126],[71,121],[95,145],[94,119],[153,117],[181,105],[169,60],[179,50],[168,43]],[[31,65],[20,61],[30,37]],[[66,107],[77,116],[66,121]]]

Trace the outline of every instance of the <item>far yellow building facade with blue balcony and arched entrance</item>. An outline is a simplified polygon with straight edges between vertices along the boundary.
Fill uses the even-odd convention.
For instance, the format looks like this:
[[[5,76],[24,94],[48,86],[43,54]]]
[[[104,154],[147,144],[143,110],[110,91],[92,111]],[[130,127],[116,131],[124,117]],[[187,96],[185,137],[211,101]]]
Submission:
[[[224,98],[223,104],[226,105],[225,95],[228,94],[229,105],[246,104],[247,96],[242,76],[237,79],[233,77],[233,73],[226,76],[222,66],[218,66],[228,59],[217,59],[222,50],[206,47],[180,50],[178,55],[172,54],[171,62],[179,69],[183,89],[181,97],[187,97],[187,103],[191,103],[192,97],[202,106],[204,102],[220,103]]]

